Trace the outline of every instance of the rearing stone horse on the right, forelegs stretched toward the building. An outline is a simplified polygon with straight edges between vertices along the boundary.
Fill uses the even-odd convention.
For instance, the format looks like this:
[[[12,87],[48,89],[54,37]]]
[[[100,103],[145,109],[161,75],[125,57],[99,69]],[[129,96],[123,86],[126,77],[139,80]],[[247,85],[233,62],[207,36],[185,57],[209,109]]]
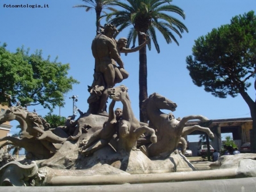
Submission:
[[[148,127],[154,128],[158,137],[157,143],[147,146],[149,156],[159,156],[161,153],[166,154],[175,151],[180,141],[185,144],[183,137],[196,130],[206,132],[211,138],[214,137],[209,128],[201,126],[185,127],[185,123],[188,120],[199,119],[202,122],[208,121],[209,119],[204,116],[189,115],[181,120],[177,120],[171,112],[170,114],[165,114],[160,111],[160,109],[174,111],[176,106],[176,103],[157,93],[151,94],[150,97],[143,101],[142,112],[144,118],[149,120]]]

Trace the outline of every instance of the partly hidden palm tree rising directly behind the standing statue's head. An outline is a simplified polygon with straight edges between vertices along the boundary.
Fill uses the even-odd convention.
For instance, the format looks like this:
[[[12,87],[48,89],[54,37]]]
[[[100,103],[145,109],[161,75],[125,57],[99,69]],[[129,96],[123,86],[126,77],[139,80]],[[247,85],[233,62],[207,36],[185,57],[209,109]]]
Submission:
[[[89,10],[95,9],[96,11],[96,32],[100,32],[100,20],[101,20],[101,12],[103,9],[109,9],[110,3],[115,2],[116,0],[82,0],[88,5],[75,5],[73,7],[81,7],[85,8],[85,11],[88,12]],[[106,14],[106,12],[104,12]]]

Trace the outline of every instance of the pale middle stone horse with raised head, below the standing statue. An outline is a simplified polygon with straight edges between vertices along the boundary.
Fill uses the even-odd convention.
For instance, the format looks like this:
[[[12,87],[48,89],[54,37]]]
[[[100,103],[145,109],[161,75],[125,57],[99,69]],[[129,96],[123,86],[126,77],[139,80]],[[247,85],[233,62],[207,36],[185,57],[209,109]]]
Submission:
[[[147,126],[141,126],[137,118],[135,118],[127,90],[127,87],[124,85],[108,89],[110,98],[115,101],[121,101],[123,104],[123,114],[119,120],[119,141],[117,147],[117,151],[121,153],[130,153],[132,149],[136,150],[137,140],[144,132],[150,133],[151,142],[156,143],[155,130]]]

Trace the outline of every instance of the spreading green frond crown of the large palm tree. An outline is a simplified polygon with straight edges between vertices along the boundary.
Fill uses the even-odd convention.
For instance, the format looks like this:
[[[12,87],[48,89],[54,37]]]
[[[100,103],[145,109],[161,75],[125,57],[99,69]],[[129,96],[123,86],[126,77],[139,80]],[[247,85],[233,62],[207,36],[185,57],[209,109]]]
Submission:
[[[185,19],[185,13],[180,7],[171,4],[172,0],[127,0],[127,3],[115,1],[110,5],[121,7],[123,10],[117,10],[112,7],[112,12],[107,14],[107,20],[110,19],[110,23],[119,27],[118,31],[121,32],[126,27],[130,27],[130,32],[127,38],[127,46],[135,41],[140,32],[144,32],[151,37],[156,51],[160,52],[156,31],[163,35],[167,44],[174,41],[179,45],[173,32],[180,38],[181,34],[186,31],[187,27],[175,18],[172,14],[178,14]],[[140,44],[140,43],[139,43]],[[148,48],[151,48],[151,44],[148,44]]]

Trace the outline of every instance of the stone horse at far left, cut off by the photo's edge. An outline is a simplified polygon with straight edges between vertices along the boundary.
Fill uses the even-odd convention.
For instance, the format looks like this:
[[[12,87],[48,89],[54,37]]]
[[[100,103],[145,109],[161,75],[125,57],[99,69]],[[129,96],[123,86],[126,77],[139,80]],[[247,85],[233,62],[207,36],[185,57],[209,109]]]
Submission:
[[[0,147],[7,144],[14,144],[24,147],[28,152],[33,153],[38,158],[47,158],[51,156],[49,153],[56,153],[57,151],[53,143],[64,143],[67,140],[67,138],[61,138],[51,131],[44,131],[43,123],[40,121],[38,115],[28,112],[21,106],[7,108],[0,114],[0,124],[11,120],[17,120],[20,123],[22,129],[21,139],[10,136],[2,137],[0,141],[8,141]],[[40,149],[33,150],[32,145]]]

